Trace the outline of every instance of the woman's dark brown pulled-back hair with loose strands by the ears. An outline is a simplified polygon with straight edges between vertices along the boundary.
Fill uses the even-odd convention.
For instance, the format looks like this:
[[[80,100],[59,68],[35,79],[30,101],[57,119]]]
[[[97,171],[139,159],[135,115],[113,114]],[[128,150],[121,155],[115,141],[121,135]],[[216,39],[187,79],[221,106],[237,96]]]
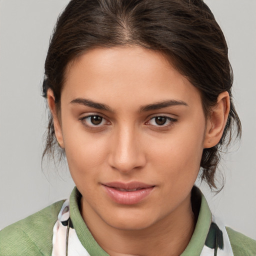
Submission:
[[[70,61],[92,47],[139,45],[164,53],[201,93],[205,117],[217,96],[228,91],[230,112],[217,145],[205,148],[201,178],[216,188],[219,150],[241,134],[232,103],[232,69],[224,35],[202,0],[71,0],[57,19],[45,60],[43,95],[51,88],[59,107],[65,70]],[[43,156],[58,147],[52,116]]]

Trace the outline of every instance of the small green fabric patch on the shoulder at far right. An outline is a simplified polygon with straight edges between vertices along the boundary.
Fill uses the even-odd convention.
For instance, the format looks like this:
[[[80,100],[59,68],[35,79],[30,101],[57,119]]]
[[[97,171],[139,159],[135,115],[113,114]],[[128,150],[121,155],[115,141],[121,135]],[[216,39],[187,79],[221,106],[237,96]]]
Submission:
[[[256,240],[226,227],[234,256],[256,256]]]

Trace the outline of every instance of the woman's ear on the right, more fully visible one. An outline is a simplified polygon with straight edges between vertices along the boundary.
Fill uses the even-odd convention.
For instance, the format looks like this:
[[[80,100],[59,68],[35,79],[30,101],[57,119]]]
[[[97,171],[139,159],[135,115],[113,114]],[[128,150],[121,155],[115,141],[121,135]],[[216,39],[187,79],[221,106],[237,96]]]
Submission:
[[[210,110],[210,116],[206,120],[204,148],[215,146],[220,140],[225,128],[230,108],[229,94],[227,91],[218,95],[216,105]]]

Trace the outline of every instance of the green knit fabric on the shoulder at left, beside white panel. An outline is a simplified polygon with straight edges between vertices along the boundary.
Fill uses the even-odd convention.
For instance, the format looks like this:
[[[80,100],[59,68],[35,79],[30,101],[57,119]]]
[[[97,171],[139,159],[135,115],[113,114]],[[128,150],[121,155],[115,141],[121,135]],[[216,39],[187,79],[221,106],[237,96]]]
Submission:
[[[64,200],[0,231],[0,255],[50,255],[53,226]]]

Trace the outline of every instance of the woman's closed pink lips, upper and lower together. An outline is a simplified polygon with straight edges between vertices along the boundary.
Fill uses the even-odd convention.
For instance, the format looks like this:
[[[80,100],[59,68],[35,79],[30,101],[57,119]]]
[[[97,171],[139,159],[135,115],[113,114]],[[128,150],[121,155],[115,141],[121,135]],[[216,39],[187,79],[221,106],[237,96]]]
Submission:
[[[133,181],[103,183],[106,194],[116,203],[136,204],[144,200],[153,190],[155,185]],[[137,189],[134,191],[121,191],[119,189]]]

